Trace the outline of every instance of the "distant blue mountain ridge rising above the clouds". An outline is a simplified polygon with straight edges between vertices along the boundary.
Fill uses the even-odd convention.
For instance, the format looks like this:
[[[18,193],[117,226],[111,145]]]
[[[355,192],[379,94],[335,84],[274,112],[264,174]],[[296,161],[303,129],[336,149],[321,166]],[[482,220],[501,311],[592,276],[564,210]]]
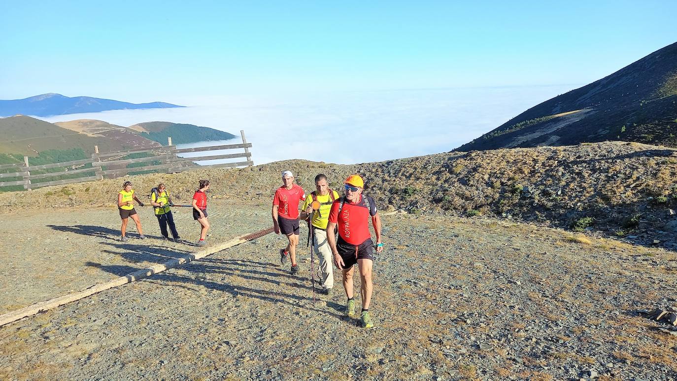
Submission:
[[[47,93],[24,99],[0,100],[0,116],[17,114],[32,116],[53,116],[81,114],[83,112],[101,112],[109,110],[137,110],[143,108],[185,107],[165,102],[132,104],[113,99],[95,97],[66,97],[61,94]]]

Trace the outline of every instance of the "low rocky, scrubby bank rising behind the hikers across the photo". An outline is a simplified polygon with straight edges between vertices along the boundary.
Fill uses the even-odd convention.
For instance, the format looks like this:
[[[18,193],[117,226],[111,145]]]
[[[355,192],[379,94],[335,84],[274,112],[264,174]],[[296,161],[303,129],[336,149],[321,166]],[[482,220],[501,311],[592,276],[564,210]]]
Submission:
[[[485,215],[573,230],[592,230],[642,244],[672,247],[677,222],[677,150],[609,141],[561,147],[453,152],[416,158],[339,165],[288,160],[245,169],[196,170],[129,177],[148,194],[167,183],[177,200],[190,200],[201,178],[213,198],[267,203],[290,169],[305,189],[325,173],[334,189],[362,173],[382,209],[419,215]],[[127,178],[125,178],[127,179]],[[0,195],[5,210],[111,204],[125,179],[46,187]],[[657,240],[659,242],[655,242]]]

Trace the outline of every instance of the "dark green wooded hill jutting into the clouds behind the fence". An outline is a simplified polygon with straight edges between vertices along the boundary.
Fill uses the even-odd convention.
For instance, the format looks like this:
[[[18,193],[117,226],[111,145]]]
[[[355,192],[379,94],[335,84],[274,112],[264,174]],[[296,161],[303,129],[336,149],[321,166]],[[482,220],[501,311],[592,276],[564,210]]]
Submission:
[[[129,126],[130,129],[139,131],[139,134],[150,140],[167,144],[167,137],[171,136],[172,143],[194,143],[196,141],[228,140],[235,135],[209,127],[186,125],[172,122],[144,122]]]

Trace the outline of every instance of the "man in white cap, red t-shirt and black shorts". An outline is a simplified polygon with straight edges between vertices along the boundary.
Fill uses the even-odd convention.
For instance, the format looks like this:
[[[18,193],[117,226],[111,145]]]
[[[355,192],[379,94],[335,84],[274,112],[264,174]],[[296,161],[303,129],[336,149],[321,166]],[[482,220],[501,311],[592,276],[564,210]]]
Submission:
[[[299,244],[299,201],[305,200],[305,192],[299,185],[294,184],[292,171],[282,172],[282,185],[275,191],[273,198],[273,227],[275,233],[287,236],[289,244],[280,249],[280,263],[284,265],[287,258],[292,260],[292,273],[299,272],[296,263],[296,246]]]

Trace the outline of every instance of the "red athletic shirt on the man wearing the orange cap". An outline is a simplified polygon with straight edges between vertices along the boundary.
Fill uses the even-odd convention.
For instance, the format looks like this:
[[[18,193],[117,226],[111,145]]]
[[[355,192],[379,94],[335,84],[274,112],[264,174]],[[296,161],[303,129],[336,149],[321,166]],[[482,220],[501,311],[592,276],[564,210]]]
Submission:
[[[332,204],[329,222],[339,225],[339,237],[346,243],[357,246],[372,238],[369,233],[369,216],[376,215],[376,202],[369,196],[360,195],[357,204],[352,204],[346,198],[339,215],[339,206],[343,199],[339,198]]]

